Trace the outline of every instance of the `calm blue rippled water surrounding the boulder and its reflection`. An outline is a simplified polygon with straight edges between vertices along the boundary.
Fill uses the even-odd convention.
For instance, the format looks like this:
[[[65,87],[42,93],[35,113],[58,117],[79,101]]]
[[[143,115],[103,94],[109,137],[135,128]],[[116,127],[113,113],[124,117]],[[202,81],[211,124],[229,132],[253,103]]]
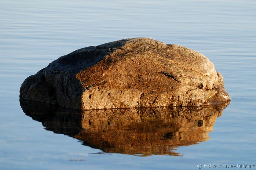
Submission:
[[[197,169],[197,164],[256,164],[255,18],[253,0],[1,0],[0,169]],[[88,141],[86,136],[96,133],[93,130],[70,137],[73,133],[67,125],[62,126],[66,131],[56,130],[63,121],[53,122],[52,128],[56,118],[33,120],[25,115],[19,88],[26,77],[78,48],[133,37],[192,48],[221,72],[232,101],[222,116],[213,119],[213,129],[204,132],[207,140],[177,145],[172,151],[179,154],[159,155],[160,151],[134,156],[135,152],[122,152],[118,146],[111,150],[95,141],[82,141]]]

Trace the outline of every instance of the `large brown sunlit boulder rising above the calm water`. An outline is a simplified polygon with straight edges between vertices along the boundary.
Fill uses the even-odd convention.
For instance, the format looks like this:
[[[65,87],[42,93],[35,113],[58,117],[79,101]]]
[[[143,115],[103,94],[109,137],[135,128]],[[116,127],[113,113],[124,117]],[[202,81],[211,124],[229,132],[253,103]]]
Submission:
[[[229,101],[203,54],[149,38],[78,49],[28,77],[24,99],[68,108],[203,106]]]

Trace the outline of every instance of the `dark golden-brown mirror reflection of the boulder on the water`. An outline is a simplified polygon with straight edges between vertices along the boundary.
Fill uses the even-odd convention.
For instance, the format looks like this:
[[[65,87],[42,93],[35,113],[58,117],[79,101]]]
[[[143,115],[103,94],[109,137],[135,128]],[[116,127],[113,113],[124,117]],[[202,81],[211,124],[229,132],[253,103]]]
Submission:
[[[209,140],[216,118],[228,105],[79,111],[20,102],[26,115],[42,122],[46,130],[75,137],[104,152],[144,156],[180,156],[176,147]]]

